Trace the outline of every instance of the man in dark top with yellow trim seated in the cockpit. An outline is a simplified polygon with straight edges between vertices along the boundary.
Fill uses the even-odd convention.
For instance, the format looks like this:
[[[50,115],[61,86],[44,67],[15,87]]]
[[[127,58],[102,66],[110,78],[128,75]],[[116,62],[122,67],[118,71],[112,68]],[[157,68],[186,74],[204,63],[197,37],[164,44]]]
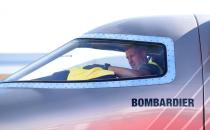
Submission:
[[[141,76],[157,76],[162,74],[161,67],[148,59],[147,47],[145,46],[132,46],[126,50],[126,58],[132,69],[107,65],[108,70],[113,71],[120,78],[141,77]]]

